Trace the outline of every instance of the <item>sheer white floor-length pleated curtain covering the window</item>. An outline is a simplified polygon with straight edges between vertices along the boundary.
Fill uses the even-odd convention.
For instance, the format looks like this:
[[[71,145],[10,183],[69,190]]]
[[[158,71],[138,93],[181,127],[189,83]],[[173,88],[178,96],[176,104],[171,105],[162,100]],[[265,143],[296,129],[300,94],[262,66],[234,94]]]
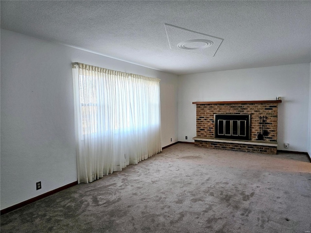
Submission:
[[[72,67],[79,183],[162,150],[159,79],[81,63]]]

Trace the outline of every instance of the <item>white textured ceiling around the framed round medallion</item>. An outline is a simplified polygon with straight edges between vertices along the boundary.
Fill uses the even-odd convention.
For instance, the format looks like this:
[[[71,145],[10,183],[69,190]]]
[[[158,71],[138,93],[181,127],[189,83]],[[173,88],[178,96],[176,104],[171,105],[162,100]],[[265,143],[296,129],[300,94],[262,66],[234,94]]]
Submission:
[[[0,4],[3,29],[174,74],[311,62],[311,1]],[[171,49],[168,37],[178,38],[167,35],[164,24],[223,41],[214,56],[209,48]]]

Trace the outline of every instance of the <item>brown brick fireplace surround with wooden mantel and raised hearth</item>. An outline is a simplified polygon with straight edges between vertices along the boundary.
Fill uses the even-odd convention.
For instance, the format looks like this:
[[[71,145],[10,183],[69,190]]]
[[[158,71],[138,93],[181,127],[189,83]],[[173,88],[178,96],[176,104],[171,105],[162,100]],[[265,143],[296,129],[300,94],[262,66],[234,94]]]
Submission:
[[[195,146],[276,154],[277,104],[280,102],[281,100],[193,102],[196,104]],[[215,137],[215,116],[218,115],[249,115],[249,140]],[[233,120],[231,124],[232,122],[237,121]]]

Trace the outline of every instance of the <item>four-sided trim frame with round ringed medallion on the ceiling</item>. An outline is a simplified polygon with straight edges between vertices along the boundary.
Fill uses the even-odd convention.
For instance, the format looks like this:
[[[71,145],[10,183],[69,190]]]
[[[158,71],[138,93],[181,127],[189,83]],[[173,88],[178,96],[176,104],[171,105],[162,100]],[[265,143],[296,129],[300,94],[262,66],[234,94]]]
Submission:
[[[164,24],[167,39],[172,50],[192,50],[214,56],[223,39]]]

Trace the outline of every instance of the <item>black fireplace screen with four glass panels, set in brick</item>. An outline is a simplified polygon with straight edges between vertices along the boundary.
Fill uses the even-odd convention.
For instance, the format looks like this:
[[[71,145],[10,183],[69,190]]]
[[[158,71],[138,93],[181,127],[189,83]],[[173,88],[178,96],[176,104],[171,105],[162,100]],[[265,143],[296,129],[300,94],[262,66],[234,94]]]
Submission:
[[[215,138],[250,140],[250,117],[241,114],[215,114]]]

